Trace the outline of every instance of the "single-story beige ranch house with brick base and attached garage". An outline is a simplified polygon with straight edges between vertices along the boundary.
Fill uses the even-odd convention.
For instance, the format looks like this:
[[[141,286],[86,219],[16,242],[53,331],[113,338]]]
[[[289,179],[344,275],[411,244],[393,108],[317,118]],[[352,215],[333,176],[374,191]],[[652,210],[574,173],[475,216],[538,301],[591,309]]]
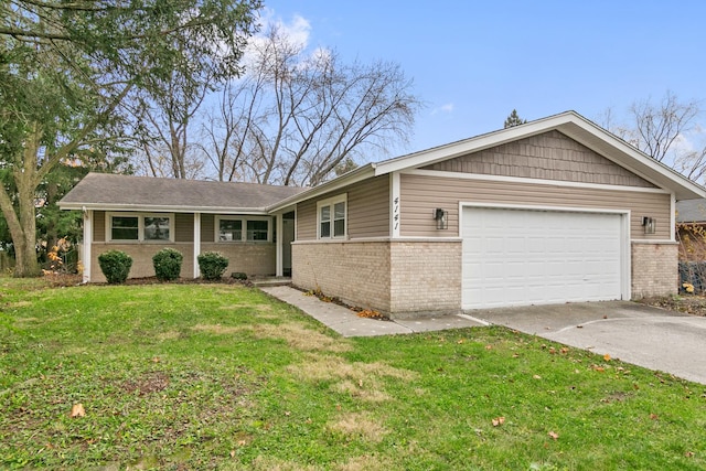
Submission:
[[[106,178],[125,181],[125,192],[104,195]],[[165,244],[147,240],[147,231],[154,234],[154,220],[167,214],[173,226],[163,242],[189,251],[184,276],[197,276],[200,250],[217,249],[231,271],[291,267],[295,286],[396,317],[676,292],[675,204],[706,197],[573,111],[365,164],[300,192],[157,180],[124,204],[128,182],[138,180],[154,181],[89,175],[61,202],[84,208],[86,280],[101,279],[97,254],[114,247],[142,260],[132,276],[151,274],[148,257]],[[204,195],[217,186],[222,197],[202,201],[182,185],[203,185]],[[240,190],[231,194],[228,185]],[[242,200],[249,191],[269,200]],[[268,232],[263,247],[248,242],[237,231],[255,229],[250,215],[278,236]],[[232,228],[226,216],[240,225]],[[264,246],[259,265],[240,261]]]

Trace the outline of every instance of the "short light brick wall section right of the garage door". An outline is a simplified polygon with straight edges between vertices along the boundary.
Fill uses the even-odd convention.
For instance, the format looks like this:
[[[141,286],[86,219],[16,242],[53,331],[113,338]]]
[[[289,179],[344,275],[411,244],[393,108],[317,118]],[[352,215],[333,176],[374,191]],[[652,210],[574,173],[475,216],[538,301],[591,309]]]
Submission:
[[[678,246],[675,243],[632,243],[632,298],[667,296],[677,292]]]

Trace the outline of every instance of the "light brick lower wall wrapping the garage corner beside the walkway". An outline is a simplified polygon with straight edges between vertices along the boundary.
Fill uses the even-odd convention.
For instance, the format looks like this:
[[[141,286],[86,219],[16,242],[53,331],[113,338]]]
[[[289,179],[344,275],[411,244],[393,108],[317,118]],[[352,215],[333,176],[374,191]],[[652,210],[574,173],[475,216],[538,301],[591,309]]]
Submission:
[[[292,244],[292,282],[395,318],[459,312],[460,240]]]

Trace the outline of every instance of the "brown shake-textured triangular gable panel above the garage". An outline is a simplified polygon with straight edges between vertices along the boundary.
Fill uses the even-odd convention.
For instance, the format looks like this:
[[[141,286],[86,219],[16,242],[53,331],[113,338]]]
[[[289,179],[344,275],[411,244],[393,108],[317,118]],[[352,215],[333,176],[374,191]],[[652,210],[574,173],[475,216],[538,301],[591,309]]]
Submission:
[[[422,168],[447,172],[654,188],[559,131],[509,142]]]

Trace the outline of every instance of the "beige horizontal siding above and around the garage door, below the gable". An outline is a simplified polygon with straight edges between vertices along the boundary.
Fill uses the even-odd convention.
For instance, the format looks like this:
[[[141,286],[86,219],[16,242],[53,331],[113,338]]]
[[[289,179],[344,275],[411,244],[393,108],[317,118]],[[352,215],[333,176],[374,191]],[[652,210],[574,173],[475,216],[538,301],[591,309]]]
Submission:
[[[403,174],[400,178],[400,235],[456,237],[459,202],[630,211],[632,239],[671,238],[671,196],[664,193],[584,189],[534,183]],[[449,228],[437,229],[435,207],[449,212]],[[656,233],[644,235],[642,216],[657,220]],[[587,231],[590,231],[587,227]]]

